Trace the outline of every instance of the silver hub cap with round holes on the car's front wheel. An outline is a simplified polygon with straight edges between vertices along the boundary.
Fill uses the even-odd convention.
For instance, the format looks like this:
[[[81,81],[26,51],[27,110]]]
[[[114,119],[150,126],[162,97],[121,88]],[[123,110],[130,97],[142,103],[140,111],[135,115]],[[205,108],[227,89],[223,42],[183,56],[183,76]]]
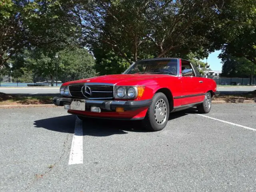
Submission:
[[[155,114],[154,114],[156,123],[158,125],[162,125],[166,121],[166,117],[167,117],[166,112],[167,112],[166,103],[164,102],[163,99],[158,100],[156,102]]]

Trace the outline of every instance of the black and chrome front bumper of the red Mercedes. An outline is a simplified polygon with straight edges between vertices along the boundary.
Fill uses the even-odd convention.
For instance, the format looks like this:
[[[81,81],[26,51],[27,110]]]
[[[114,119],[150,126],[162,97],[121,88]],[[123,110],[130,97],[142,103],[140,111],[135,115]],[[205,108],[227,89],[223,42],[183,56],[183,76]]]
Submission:
[[[72,101],[84,100],[86,108],[91,106],[100,107],[103,110],[115,111],[116,107],[122,107],[125,111],[137,110],[139,108],[148,107],[152,103],[152,99],[141,100],[141,101],[115,101],[115,100],[90,100],[90,99],[75,99],[75,98],[64,98],[54,97],[52,99],[53,104],[57,106],[70,105]]]

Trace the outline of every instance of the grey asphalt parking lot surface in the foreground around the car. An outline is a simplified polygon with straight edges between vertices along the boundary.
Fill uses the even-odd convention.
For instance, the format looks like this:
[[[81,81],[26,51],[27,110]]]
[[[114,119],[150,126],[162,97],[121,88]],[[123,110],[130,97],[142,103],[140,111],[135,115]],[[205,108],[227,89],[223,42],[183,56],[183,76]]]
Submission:
[[[0,117],[0,191],[256,191],[256,104],[174,113],[160,132],[62,107]]]

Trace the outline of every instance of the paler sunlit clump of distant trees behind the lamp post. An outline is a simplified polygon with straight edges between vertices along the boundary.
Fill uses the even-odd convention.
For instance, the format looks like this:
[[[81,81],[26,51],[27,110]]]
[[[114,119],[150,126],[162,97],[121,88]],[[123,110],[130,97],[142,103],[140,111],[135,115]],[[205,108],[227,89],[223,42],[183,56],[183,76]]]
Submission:
[[[54,55],[58,54],[58,60]],[[24,66],[35,75],[50,76],[52,85],[54,76],[83,74],[84,78],[95,76],[95,61],[85,48],[67,47],[57,53],[45,52],[45,50],[34,49],[24,54]]]

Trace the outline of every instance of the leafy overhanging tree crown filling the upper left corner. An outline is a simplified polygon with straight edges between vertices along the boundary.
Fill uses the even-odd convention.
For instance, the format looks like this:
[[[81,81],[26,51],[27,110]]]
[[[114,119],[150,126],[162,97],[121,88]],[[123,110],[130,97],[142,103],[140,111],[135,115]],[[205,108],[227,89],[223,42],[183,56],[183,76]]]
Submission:
[[[0,2],[0,68],[24,48],[60,49],[76,41],[62,0],[2,0]]]

